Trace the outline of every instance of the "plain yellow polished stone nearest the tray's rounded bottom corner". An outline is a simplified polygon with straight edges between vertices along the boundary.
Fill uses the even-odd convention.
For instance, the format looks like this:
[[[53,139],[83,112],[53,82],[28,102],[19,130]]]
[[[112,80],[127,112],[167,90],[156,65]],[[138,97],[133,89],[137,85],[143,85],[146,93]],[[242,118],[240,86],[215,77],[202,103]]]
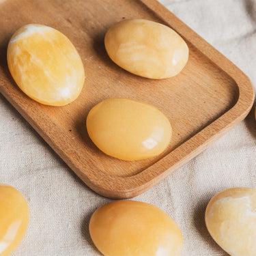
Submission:
[[[162,112],[126,98],[111,98],[94,106],[86,125],[102,152],[123,160],[156,156],[171,140],[171,124]]]

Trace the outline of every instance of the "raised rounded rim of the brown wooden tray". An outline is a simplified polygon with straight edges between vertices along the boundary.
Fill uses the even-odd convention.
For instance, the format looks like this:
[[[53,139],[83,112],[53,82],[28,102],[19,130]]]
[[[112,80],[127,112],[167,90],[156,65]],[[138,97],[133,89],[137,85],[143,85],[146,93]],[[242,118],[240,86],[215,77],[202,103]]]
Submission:
[[[158,160],[154,165],[141,171],[141,173],[129,177],[117,177],[98,170],[93,160],[85,158],[85,156],[72,147],[72,139],[68,138],[57,124],[40,109],[37,102],[31,101],[31,103],[29,102],[29,104],[27,104],[26,96],[23,96],[23,94],[19,95],[16,94],[15,91],[12,91],[12,89],[7,91],[3,89],[3,86],[0,87],[3,96],[5,96],[18,112],[27,119],[27,122],[31,124],[53,150],[55,150],[61,158],[65,159],[68,166],[85,184],[87,184],[87,186],[96,191],[96,193],[113,199],[126,199],[145,192],[145,190],[151,188],[188,162],[188,160],[205,150],[211,143],[223,136],[223,134],[246,117],[253,106],[255,97],[251,81],[238,67],[231,63],[231,61],[208,44],[208,42],[203,40],[195,31],[190,29],[158,1],[140,1],[161,20],[165,20],[182,38],[196,46],[203,55],[208,57],[216,66],[231,76],[239,89],[238,101],[229,111],[203,128],[203,130],[188,139],[188,141],[182,143],[182,145],[170,152],[167,156]],[[161,14],[161,16],[159,16],[159,14]],[[0,83],[4,85],[4,81],[1,77]],[[37,117],[40,117],[40,122],[37,122]],[[51,129],[49,124],[51,124]],[[56,139],[55,134],[59,134],[58,139]],[[60,137],[62,137],[62,139],[59,139]],[[63,145],[68,145],[68,147],[63,148]],[[69,156],[71,155],[75,157],[70,158]],[[87,166],[90,169],[87,169],[87,171],[83,173],[81,168],[77,166],[77,162],[80,162],[80,167]],[[173,162],[171,167],[169,162]]]

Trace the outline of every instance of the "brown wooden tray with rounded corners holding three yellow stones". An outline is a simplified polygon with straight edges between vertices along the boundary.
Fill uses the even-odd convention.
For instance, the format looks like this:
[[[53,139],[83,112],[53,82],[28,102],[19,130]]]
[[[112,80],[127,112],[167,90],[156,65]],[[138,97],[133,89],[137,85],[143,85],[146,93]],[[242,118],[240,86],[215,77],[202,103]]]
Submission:
[[[155,81],[116,66],[106,55],[104,34],[128,18],[154,20],[180,33],[190,49],[184,70]],[[83,59],[87,79],[81,96],[68,106],[31,100],[10,76],[8,41],[28,23],[63,32]],[[87,186],[105,197],[125,199],[151,188],[242,121],[253,104],[248,77],[156,0],[0,0],[0,27],[1,94]],[[106,156],[90,141],[89,109],[115,97],[147,102],[167,115],[173,139],[164,153],[129,162]]]

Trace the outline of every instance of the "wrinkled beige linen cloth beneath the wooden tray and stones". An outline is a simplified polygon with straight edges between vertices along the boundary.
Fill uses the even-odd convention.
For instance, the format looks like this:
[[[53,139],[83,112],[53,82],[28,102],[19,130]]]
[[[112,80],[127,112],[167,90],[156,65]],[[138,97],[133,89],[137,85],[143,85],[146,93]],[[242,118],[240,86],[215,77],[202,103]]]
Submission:
[[[160,0],[236,63],[256,86],[255,0]],[[13,256],[100,255],[88,233],[92,212],[111,201],[85,186],[0,95],[0,183],[20,190],[31,212]],[[210,198],[233,186],[256,187],[254,111],[214,145],[143,195],[182,229],[182,255],[227,255],[205,228]],[[122,255],[120,255],[122,256]]]

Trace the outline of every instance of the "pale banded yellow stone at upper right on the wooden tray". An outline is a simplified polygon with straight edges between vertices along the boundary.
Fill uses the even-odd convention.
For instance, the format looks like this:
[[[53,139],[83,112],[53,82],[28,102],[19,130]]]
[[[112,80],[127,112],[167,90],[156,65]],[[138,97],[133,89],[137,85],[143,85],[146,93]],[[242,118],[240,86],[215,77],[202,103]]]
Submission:
[[[106,32],[104,41],[117,65],[149,79],[175,76],[188,61],[188,46],[180,35],[150,20],[123,20]]]

